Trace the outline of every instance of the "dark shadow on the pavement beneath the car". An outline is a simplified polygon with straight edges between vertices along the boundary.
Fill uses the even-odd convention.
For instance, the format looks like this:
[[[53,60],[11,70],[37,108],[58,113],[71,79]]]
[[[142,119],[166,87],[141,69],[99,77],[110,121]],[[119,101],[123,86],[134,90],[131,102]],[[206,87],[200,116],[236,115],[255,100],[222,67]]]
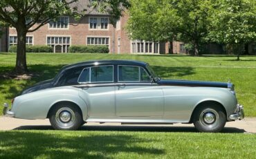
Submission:
[[[51,126],[21,126],[13,130],[53,130]],[[84,125],[77,131],[138,131],[138,132],[163,132],[163,133],[198,133],[194,127],[175,127],[175,126],[109,126],[109,125]],[[236,127],[224,127],[220,133],[246,133],[244,129],[238,129]]]

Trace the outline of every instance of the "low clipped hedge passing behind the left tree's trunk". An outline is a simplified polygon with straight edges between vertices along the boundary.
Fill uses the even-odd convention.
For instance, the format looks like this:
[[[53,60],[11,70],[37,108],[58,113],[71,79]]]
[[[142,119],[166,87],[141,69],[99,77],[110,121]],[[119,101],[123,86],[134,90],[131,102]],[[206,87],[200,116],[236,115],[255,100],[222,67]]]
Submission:
[[[10,46],[10,53],[17,52],[17,46]],[[53,53],[51,46],[26,46],[26,53]]]

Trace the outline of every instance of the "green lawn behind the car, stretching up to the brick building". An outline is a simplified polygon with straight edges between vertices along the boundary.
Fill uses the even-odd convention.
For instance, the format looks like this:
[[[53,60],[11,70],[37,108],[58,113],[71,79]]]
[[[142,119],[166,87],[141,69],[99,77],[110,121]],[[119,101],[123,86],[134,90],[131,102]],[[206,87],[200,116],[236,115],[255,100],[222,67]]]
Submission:
[[[14,53],[0,53],[0,74],[15,66]],[[66,64],[95,59],[135,59],[148,62],[158,75],[167,79],[193,79],[235,84],[239,103],[246,117],[256,117],[256,57],[209,56],[190,57],[178,55],[110,55],[110,54],[53,54],[28,53],[30,71],[36,74],[29,80],[0,79],[0,104],[9,102],[26,86],[52,78]],[[2,106],[0,111],[2,110]]]

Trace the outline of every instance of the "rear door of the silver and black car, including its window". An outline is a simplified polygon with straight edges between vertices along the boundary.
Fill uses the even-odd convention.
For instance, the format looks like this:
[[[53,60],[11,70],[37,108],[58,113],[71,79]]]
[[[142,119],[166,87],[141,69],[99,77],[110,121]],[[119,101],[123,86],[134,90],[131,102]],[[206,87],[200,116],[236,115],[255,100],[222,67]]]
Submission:
[[[84,68],[78,82],[80,96],[88,105],[91,119],[113,118],[116,116],[113,65]]]

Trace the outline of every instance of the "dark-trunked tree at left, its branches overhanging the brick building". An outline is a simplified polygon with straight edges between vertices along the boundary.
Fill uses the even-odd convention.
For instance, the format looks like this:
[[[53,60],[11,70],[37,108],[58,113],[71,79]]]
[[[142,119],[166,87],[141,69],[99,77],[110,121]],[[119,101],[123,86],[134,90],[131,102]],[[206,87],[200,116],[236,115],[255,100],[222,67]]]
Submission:
[[[33,32],[61,15],[78,16],[77,0],[1,0],[0,21],[17,30],[16,73],[26,73],[26,33]],[[71,7],[73,4],[73,7]],[[31,28],[34,26],[33,28]]]

